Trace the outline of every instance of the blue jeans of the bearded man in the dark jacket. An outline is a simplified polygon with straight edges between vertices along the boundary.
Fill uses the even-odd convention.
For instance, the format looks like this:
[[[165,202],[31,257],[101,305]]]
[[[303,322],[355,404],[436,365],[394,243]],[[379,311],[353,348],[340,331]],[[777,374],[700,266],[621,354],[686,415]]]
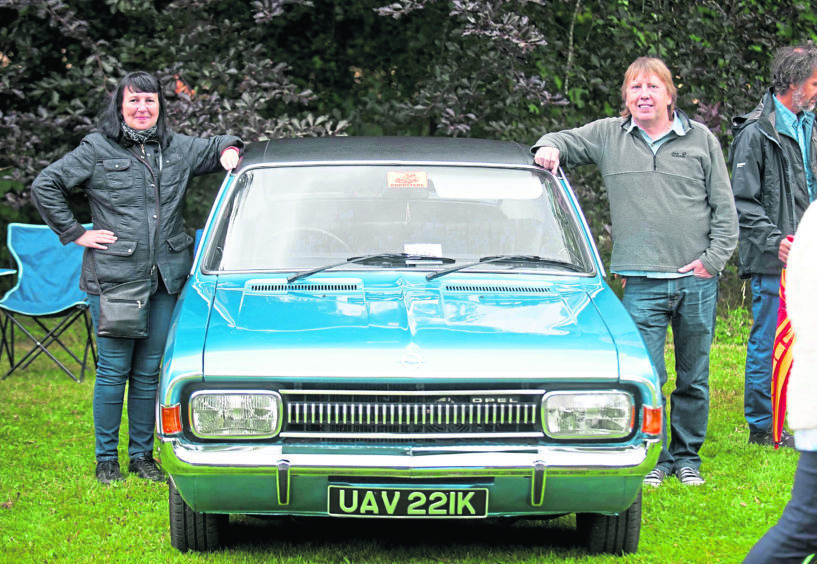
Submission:
[[[780,276],[752,276],[752,330],[746,346],[743,413],[749,431],[772,428],[772,350],[780,303]]]

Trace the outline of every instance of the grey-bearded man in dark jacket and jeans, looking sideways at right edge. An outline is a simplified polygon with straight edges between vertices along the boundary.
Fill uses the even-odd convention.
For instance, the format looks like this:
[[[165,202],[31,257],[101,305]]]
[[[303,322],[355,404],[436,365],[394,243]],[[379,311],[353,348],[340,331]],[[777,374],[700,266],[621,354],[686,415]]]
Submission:
[[[749,443],[773,444],[772,348],[780,272],[792,235],[815,195],[817,48],[780,49],[774,85],[750,113],[732,121],[732,190],[740,221],[740,275],[751,278],[754,324],[746,353],[744,414]],[[784,431],[782,444],[793,446]]]

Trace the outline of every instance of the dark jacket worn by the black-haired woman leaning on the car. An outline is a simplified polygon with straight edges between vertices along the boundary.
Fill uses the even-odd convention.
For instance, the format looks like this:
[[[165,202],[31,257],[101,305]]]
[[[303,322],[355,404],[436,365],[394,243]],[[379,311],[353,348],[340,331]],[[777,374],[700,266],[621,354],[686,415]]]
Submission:
[[[85,249],[80,288],[99,294],[151,277],[155,290],[158,270],[167,290],[179,292],[193,260],[193,238],[182,217],[187,183],[192,176],[221,170],[219,158],[229,146],[243,143],[228,135],[201,139],[168,132],[160,149],[158,143],[120,144],[92,133],[43,170],[32,185],[32,200],[63,244],[85,232],[67,203],[77,188],[88,195],[94,229],[117,237],[107,250]]]

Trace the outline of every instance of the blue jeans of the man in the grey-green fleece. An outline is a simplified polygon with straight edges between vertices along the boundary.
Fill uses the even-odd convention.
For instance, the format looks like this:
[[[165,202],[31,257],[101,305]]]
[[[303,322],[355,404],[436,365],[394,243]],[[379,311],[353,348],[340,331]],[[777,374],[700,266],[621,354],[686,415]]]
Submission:
[[[627,277],[622,303],[647,345],[662,389],[667,382],[664,344],[672,325],[676,383],[670,396],[671,440],[662,392],[663,448],[656,468],[667,473],[683,467],[697,470],[709,418],[709,349],[715,334],[718,278]]]

